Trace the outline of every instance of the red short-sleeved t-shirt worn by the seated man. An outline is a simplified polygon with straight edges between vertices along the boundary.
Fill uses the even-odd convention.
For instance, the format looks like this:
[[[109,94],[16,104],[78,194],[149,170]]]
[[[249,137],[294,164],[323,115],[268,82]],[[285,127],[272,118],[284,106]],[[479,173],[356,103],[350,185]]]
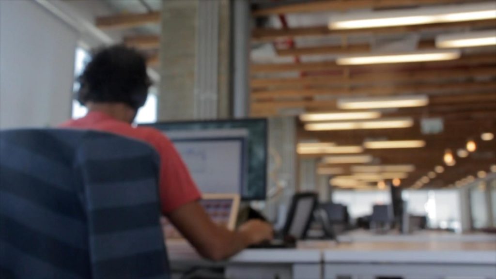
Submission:
[[[130,124],[114,119],[102,112],[89,112],[83,118],[63,123],[60,128],[104,131],[146,141],[155,147],[161,162],[159,192],[164,214],[201,197],[183,159],[171,140],[156,129],[132,127]]]

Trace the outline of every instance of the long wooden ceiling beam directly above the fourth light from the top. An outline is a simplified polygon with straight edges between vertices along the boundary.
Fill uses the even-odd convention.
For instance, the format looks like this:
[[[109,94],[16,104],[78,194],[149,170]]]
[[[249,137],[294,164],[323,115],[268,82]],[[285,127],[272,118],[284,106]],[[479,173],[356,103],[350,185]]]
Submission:
[[[460,90],[473,90],[482,91],[487,90],[496,91],[496,82],[451,82],[446,84],[415,84],[415,85],[380,85],[374,87],[364,87],[356,89],[341,88],[310,88],[310,89],[279,89],[279,90],[265,90],[251,92],[251,99],[253,101],[263,101],[267,98],[280,98],[280,97],[313,97],[313,96],[385,96],[397,95],[402,92],[410,94],[432,93],[439,91],[460,91]],[[284,100],[282,100],[284,102]],[[307,102],[307,101],[303,101]],[[316,103],[322,100],[316,101]]]

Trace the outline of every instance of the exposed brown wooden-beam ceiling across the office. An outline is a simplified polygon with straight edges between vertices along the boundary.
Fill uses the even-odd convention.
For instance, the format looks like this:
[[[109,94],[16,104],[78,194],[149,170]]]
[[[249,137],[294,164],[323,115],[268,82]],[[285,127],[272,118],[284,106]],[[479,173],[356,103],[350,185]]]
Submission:
[[[147,50],[149,63],[158,66],[160,1],[108,2],[119,14],[99,18],[97,26],[134,30],[124,41]],[[333,186],[375,188],[380,186],[378,182],[394,178],[401,178],[400,187],[459,186],[477,174],[483,176],[481,171],[489,172],[496,163],[496,140],[481,138],[483,133],[496,134],[496,45],[441,48],[440,44],[440,36],[448,34],[494,34],[496,2],[252,0],[251,4],[251,115],[340,113],[327,116],[327,120],[318,116],[320,121],[310,123],[326,124],[323,126],[298,122],[300,142],[328,144],[329,148],[310,147],[311,154],[303,151],[300,157],[316,158],[320,173],[339,178]],[[484,13],[477,10],[481,7],[486,13],[478,17]],[[462,11],[472,13],[461,15]],[[416,62],[412,62],[417,59],[413,56],[398,58],[405,54],[423,56]],[[377,55],[382,56],[370,57]],[[387,59],[396,63],[384,63],[384,55],[394,56]],[[345,59],[350,57],[354,58]],[[374,59],[379,63],[364,64]],[[404,59],[410,62],[398,63]],[[405,99],[419,96],[427,102],[404,106]],[[378,97],[382,99],[375,104],[380,105],[371,107],[370,102]],[[360,101],[362,106],[346,108],[346,101]],[[348,119],[342,114],[346,112],[374,112],[375,116],[372,120]],[[383,120],[404,120],[406,124],[393,129],[381,123]],[[489,138],[486,134],[485,139]],[[367,148],[371,141],[386,141],[379,145],[382,147],[395,146],[387,142],[392,140],[424,144]],[[477,148],[464,156],[466,151],[457,151],[467,149],[468,140],[474,140]],[[343,146],[360,149],[347,154],[348,149],[335,148]],[[329,164],[327,157],[342,155],[336,153],[365,154],[372,160]],[[453,155],[454,166],[443,162],[446,153]],[[387,171],[402,165],[410,166],[406,174],[396,172],[395,177],[394,171]]]

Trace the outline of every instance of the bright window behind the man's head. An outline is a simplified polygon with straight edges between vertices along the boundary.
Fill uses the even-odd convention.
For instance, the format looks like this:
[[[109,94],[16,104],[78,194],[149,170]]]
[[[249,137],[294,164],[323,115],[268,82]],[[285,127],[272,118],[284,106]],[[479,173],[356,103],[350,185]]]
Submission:
[[[84,66],[91,59],[90,54],[82,49],[76,49],[76,60],[74,63],[74,76],[77,78],[83,71]],[[76,92],[79,89],[79,82],[74,81],[73,91]],[[86,115],[88,110],[85,106],[79,104],[75,99],[72,100],[72,119],[81,118]],[[154,123],[157,122],[157,88],[152,86],[148,91],[148,98],[146,99],[145,105],[138,110],[136,119],[134,120],[137,124],[140,123]]]

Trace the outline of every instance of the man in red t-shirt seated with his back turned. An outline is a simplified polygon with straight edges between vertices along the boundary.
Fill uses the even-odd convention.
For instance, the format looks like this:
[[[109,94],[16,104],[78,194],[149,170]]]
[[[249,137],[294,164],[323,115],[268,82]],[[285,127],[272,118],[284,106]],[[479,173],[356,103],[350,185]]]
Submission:
[[[259,220],[250,220],[237,231],[216,225],[199,205],[201,195],[171,141],[155,129],[131,126],[151,83],[145,59],[139,53],[124,46],[101,49],[94,54],[79,82],[78,100],[89,112],[61,127],[106,131],[155,147],[161,160],[162,213],[200,255],[221,260],[272,238],[272,227]]]

